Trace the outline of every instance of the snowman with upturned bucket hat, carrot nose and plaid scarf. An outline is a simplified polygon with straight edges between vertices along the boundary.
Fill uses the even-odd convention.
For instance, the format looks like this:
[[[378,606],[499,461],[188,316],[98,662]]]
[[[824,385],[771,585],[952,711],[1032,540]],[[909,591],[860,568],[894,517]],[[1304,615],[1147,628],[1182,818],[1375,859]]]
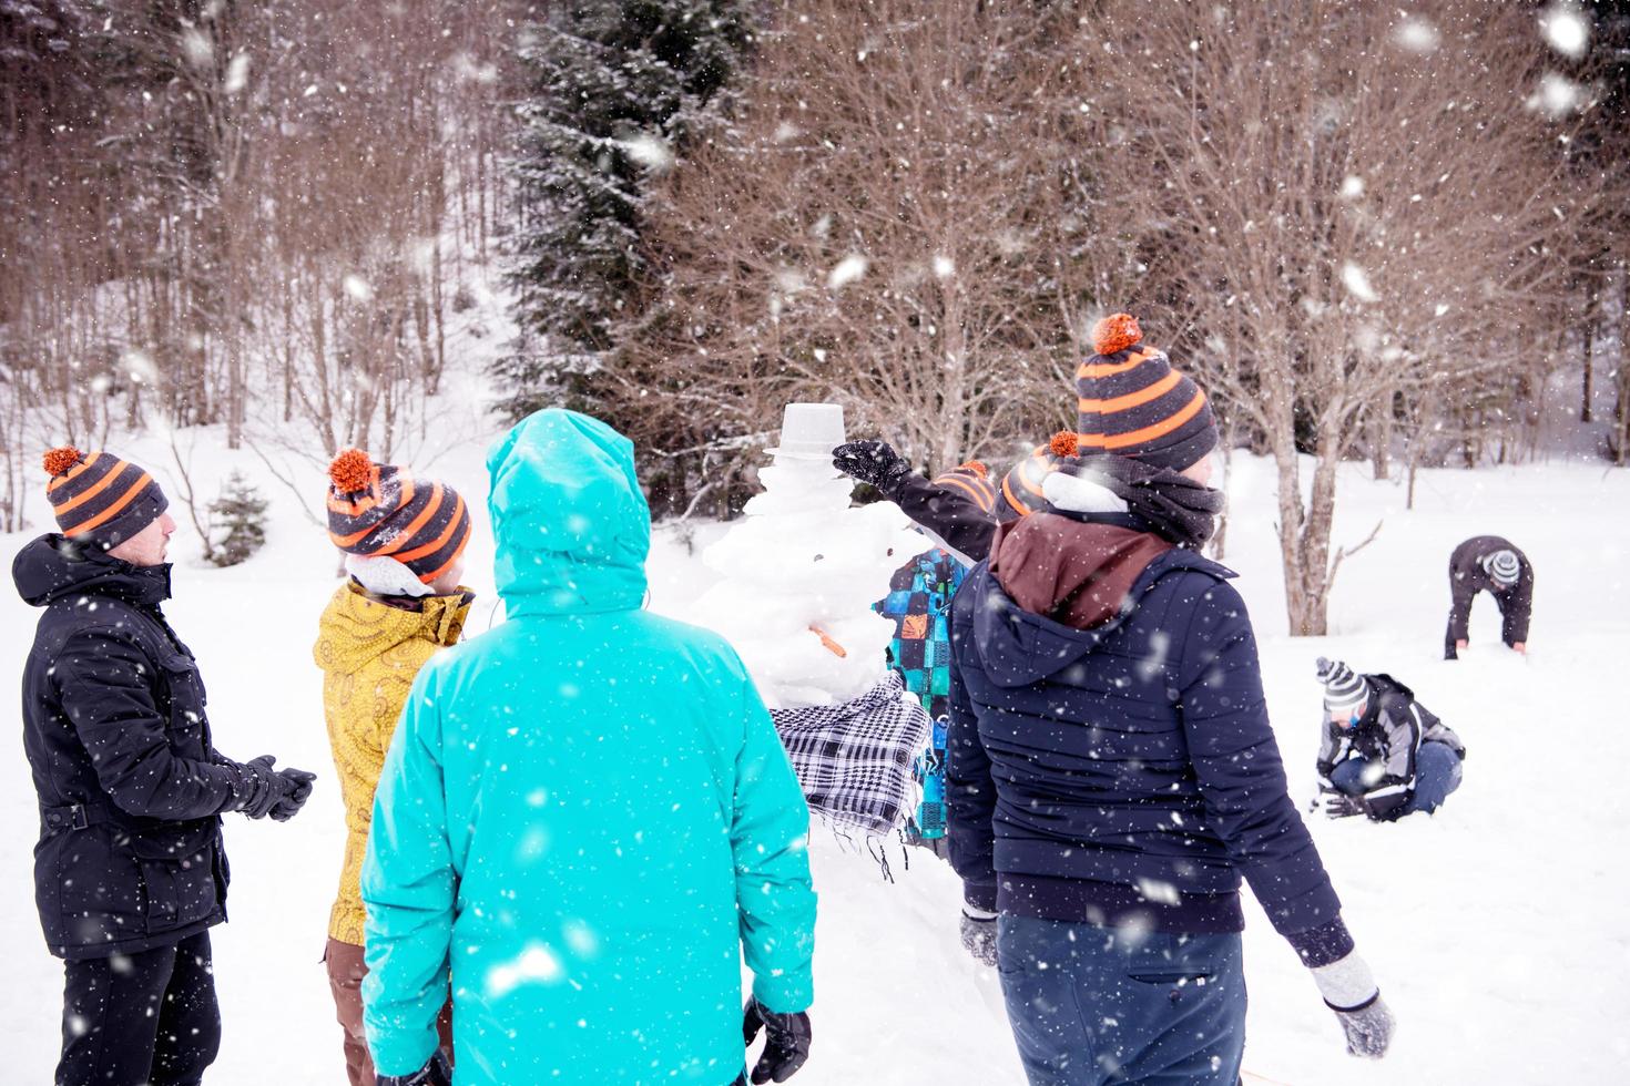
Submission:
[[[703,552],[720,580],[693,617],[740,653],[810,809],[882,835],[916,809],[931,721],[888,669],[895,624],[872,604],[924,541],[892,501],[851,508],[843,441],[838,404],[786,407],[764,492]]]

